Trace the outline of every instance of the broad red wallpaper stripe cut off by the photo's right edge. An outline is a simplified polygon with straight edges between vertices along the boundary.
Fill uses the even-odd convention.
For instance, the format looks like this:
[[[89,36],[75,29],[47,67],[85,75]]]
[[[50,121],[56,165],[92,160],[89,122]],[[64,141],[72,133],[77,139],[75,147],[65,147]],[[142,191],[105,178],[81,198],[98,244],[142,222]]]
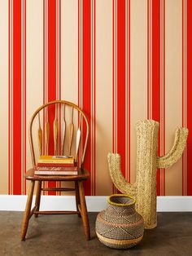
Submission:
[[[187,128],[190,130],[187,139],[187,196],[192,196],[192,162],[190,161],[192,152],[192,1],[187,1]]]

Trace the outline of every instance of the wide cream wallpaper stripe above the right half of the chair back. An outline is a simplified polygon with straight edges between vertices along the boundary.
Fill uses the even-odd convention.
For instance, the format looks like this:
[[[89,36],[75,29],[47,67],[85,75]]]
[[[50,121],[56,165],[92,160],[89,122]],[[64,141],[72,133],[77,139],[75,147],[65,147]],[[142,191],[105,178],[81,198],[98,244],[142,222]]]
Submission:
[[[78,1],[62,1],[61,5],[61,99],[78,104]],[[76,141],[77,116],[74,113],[74,138]],[[67,134],[71,117],[66,108]],[[68,135],[66,136],[66,146]],[[72,143],[72,154],[75,155],[75,143]],[[74,187],[74,183],[68,185]]]

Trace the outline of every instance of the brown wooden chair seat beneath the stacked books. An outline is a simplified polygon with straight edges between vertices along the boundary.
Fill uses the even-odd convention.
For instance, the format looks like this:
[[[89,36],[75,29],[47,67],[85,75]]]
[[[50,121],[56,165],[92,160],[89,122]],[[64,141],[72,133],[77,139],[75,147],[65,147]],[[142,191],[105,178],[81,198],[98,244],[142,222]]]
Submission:
[[[29,169],[24,175],[25,179],[28,180],[39,180],[39,181],[75,181],[75,180],[86,180],[89,178],[89,171],[80,168],[77,175],[35,175],[34,169]]]

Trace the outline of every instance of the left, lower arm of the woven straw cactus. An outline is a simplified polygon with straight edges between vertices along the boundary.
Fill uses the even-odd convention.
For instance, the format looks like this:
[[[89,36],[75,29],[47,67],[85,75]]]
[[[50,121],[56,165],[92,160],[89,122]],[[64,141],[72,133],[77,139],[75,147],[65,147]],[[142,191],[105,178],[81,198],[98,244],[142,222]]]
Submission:
[[[120,155],[109,153],[107,158],[111,179],[116,188],[122,193],[136,196],[136,183],[128,183],[120,170]]]

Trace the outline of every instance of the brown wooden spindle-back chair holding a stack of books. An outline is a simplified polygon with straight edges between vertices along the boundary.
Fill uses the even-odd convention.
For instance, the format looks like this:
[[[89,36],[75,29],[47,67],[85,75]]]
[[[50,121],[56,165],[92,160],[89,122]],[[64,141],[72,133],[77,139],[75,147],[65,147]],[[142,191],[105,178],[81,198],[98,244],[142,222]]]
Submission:
[[[67,113],[67,108],[68,108],[68,113]],[[76,112],[76,115],[75,115],[75,112]],[[52,118],[52,122],[53,122],[52,129],[50,126],[50,122],[48,120],[48,116],[50,116],[50,113],[52,114],[52,117],[53,117],[53,114],[55,116],[54,121]],[[69,124],[67,120],[67,115],[69,117],[69,120],[71,119],[69,121],[70,122]],[[34,120],[36,120],[36,125]],[[76,127],[74,125],[75,121],[77,123]],[[43,129],[41,129],[41,122],[44,123]],[[36,136],[34,136],[34,128],[36,130]],[[50,135],[51,130],[53,131],[52,137]],[[81,136],[81,130],[83,130],[83,136]],[[76,131],[76,134],[75,134],[75,131]],[[74,143],[75,136],[76,136],[76,143]],[[36,144],[34,143],[35,137],[37,137]],[[83,137],[82,142],[81,142],[81,137]],[[25,179],[30,181],[30,187],[28,189],[28,199],[27,199],[27,203],[24,211],[23,223],[21,226],[22,241],[25,240],[25,236],[28,230],[28,222],[33,214],[35,215],[35,217],[37,217],[38,214],[78,214],[79,217],[82,218],[86,239],[87,240],[90,239],[89,218],[87,214],[85,194],[84,194],[84,188],[82,183],[83,180],[86,180],[89,178],[89,172],[84,169],[85,152],[87,148],[88,137],[89,137],[89,124],[88,124],[87,118],[85,117],[85,113],[81,110],[81,108],[76,106],[76,104],[72,104],[65,100],[55,100],[42,105],[33,114],[33,117],[31,118],[31,121],[29,124],[29,143],[30,143],[30,150],[31,150],[32,161],[33,161],[33,168],[28,170],[25,174]],[[54,142],[52,141],[52,144],[50,145],[51,139],[54,140]],[[61,140],[62,140],[62,143],[60,143]],[[35,146],[38,149],[35,150]],[[54,148],[54,153],[50,152],[50,148],[52,149],[52,151]],[[78,152],[79,148],[81,148],[81,152]],[[37,154],[37,152],[39,153]],[[35,175],[34,167],[37,164],[37,157],[39,157],[39,155],[41,154],[50,154],[50,155],[73,154],[75,155],[76,160],[79,158],[78,160],[79,173],[77,175],[57,175],[57,176],[56,175]],[[42,182],[47,182],[47,181],[57,181],[57,182],[70,181],[70,182],[74,182],[75,186],[74,188],[43,188]],[[31,205],[33,201],[33,190],[34,190],[35,183],[37,183],[36,200],[35,200],[35,206],[31,210]],[[72,211],[72,210],[40,211],[39,209],[40,209],[42,191],[48,191],[48,192],[75,191],[76,211]]]

